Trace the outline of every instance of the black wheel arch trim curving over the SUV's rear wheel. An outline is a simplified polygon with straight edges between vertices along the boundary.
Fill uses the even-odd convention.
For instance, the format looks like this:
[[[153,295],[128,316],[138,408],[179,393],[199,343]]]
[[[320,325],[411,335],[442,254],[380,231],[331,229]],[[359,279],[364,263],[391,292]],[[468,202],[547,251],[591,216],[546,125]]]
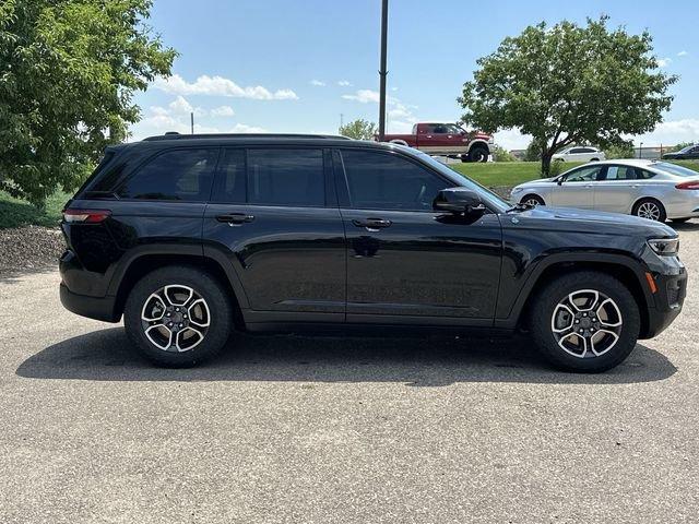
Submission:
[[[241,293],[240,283],[233,279],[232,275],[224,270],[222,264],[211,257],[173,252],[147,252],[129,260],[114,289],[114,295],[116,296],[115,313],[118,318],[123,314],[127,298],[135,283],[143,277],[143,275],[168,265],[187,265],[213,276],[224,286],[225,293],[227,293],[233,300],[235,326],[237,329],[245,326],[241,307],[247,305],[247,300],[245,299],[245,294]]]

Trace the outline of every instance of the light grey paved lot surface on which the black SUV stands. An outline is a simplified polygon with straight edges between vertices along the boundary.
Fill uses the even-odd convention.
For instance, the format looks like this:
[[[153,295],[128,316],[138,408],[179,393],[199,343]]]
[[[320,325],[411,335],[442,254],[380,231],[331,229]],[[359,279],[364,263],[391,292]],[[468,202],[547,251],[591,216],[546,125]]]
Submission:
[[[244,337],[151,368],[0,281],[0,522],[697,522],[699,224],[685,312],[602,376],[524,342]],[[694,278],[692,278],[694,277]]]

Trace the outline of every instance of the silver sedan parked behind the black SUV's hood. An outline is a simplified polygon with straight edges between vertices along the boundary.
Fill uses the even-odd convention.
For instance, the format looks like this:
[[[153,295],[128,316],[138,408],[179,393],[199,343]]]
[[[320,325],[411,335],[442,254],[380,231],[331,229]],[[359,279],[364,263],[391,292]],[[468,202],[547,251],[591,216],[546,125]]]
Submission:
[[[512,201],[626,213],[665,222],[699,216],[699,172],[668,162],[596,162],[521,183]]]

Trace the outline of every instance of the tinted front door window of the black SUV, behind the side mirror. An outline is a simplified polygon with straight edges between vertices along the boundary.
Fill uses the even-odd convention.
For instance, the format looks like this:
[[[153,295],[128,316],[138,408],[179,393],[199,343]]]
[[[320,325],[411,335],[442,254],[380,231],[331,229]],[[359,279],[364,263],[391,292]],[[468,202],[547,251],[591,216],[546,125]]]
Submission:
[[[437,193],[452,186],[398,155],[343,151],[342,158],[355,209],[431,210]]]

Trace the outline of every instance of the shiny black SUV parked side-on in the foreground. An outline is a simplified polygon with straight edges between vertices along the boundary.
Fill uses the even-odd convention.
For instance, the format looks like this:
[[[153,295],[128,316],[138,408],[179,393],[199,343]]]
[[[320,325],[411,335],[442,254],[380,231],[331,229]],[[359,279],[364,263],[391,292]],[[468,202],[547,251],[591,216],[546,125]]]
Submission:
[[[665,225],[512,206],[418,151],[330,136],[109,147],[62,229],[63,305],[123,315],[176,367],[236,330],[520,329],[554,365],[602,371],[677,317],[687,278]]]

